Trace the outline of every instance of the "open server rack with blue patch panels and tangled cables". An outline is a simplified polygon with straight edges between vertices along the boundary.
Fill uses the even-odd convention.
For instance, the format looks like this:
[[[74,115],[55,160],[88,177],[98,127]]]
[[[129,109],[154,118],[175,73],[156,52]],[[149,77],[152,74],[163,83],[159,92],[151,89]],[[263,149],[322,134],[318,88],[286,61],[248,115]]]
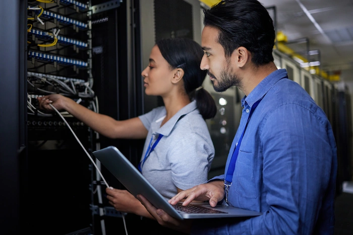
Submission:
[[[90,5],[56,0],[27,6],[28,219],[22,227],[43,234],[90,229],[93,174],[85,150],[95,150],[94,132],[69,113],[40,110],[37,102],[62,94],[96,109]]]

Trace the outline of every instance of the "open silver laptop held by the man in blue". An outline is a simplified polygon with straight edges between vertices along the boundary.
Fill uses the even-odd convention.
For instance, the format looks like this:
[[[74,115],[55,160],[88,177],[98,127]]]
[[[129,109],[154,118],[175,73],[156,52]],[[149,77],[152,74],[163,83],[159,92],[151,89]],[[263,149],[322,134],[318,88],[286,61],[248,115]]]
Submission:
[[[212,207],[208,202],[195,202],[188,206],[180,203],[171,205],[143,177],[137,168],[114,146],[93,152],[93,155],[119,180],[135,197],[143,195],[156,208],[163,209],[169,215],[178,219],[249,217],[261,215],[261,212],[245,210],[227,205]]]

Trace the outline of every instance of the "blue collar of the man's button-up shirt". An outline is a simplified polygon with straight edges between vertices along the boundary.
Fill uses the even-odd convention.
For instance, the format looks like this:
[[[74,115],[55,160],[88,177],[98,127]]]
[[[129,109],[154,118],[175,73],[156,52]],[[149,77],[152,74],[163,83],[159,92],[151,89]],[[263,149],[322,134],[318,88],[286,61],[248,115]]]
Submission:
[[[263,98],[266,93],[273,87],[275,83],[287,76],[287,71],[284,68],[277,69],[270,73],[262,80],[253,91],[250,92],[249,96],[244,96],[242,99],[242,106],[244,107],[245,102],[252,107],[255,102]]]

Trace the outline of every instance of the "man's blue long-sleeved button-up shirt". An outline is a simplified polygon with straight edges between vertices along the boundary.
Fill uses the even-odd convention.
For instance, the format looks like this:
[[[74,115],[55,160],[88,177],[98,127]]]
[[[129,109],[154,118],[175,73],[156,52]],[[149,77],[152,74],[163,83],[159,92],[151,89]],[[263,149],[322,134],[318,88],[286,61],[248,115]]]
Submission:
[[[337,153],[332,128],[309,94],[287,79],[285,69],[272,72],[243,98],[225,173],[247,110],[260,99],[240,145],[228,204],[263,214],[196,222],[193,233],[333,234]],[[224,180],[224,175],[213,179]]]

